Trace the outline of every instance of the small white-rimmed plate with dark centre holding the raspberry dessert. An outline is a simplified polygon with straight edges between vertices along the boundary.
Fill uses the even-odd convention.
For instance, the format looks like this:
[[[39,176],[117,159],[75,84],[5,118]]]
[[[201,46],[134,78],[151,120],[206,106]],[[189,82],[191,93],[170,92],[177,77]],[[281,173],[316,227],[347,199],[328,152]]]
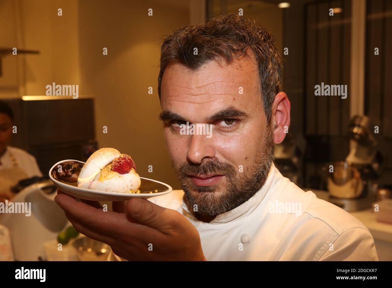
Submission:
[[[140,198],[149,198],[149,197],[155,197],[155,196],[160,196],[164,195],[167,193],[170,193],[173,189],[169,185],[162,183],[160,181],[148,179],[148,178],[143,178],[140,177],[141,180],[141,185],[139,190],[142,192],[140,194],[125,194],[125,193],[116,193],[116,192],[104,192],[104,191],[98,191],[98,190],[92,190],[92,189],[86,189],[86,188],[79,188],[76,187],[72,184],[67,184],[58,181],[57,179],[54,179],[52,176],[52,170],[54,167],[57,167],[62,162],[65,161],[77,161],[80,163],[83,163],[82,161],[78,160],[62,160],[58,161],[56,164],[52,166],[52,168],[49,170],[49,178],[52,180],[54,185],[56,185],[57,188],[62,190],[63,192],[72,195],[74,197],[78,197],[80,199],[86,199],[86,200],[93,200],[93,201],[124,201],[124,200],[129,200],[132,197],[140,197]],[[148,193],[149,191],[154,191],[157,189],[159,192],[155,193]],[[147,192],[147,193],[143,193]]]

